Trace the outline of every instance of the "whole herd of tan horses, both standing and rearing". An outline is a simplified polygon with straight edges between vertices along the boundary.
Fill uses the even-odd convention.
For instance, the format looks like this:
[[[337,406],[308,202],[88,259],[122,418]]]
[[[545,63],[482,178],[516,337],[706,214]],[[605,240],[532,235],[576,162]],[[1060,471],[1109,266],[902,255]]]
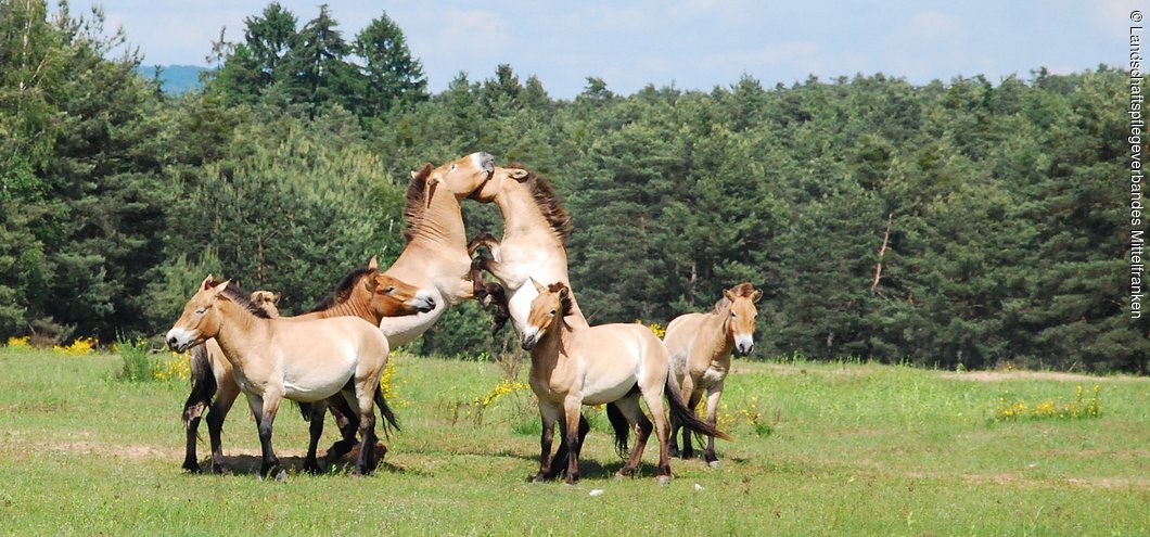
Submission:
[[[483,235],[467,240],[465,199],[499,207],[501,239]],[[261,478],[279,466],[271,434],[284,399],[300,404],[309,421],[305,470],[321,470],[316,451],[330,412],[342,438],[328,450],[328,462],[351,452],[358,435],[354,473],[370,473],[382,457],[375,407],[385,432],[398,429],[379,385],[390,348],[414,340],[450,306],[469,299],[497,309],[497,329],[511,320],[530,351],[529,384],[543,421],[535,481],[578,480],[580,448],[590,429],[583,405],[606,405],[621,454],[635,432],[619,476],[635,474],[652,430],[659,442],[660,484],[670,481],[670,457],[693,457],[692,432],[708,438],[704,457],[718,466],[714,438],[729,438],[715,428],[719,398],[731,353],[754,347],[754,304],[761,291],[746,283],[728,289],[712,312],[673,320],[662,340],[638,324],[590,325],[570,289],[565,250],[570,220],[554,189],[531,170],[496,167],[488,153],[412,172],[404,217],[406,245],[391,267],[379,270],[373,258],[304,315],[281,317],[270,293],[247,296],[229,281],[204,279],[166,336],[174,351],[190,350],[192,365],[184,407],[185,469],[200,470],[195,443],[205,417],[212,470],[225,471],[221,430],[244,393],[258,425]],[[485,283],[484,270],[498,283]],[[706,421],[693,412],[704,392]],[[557,423],[561,442],[552,455]]]

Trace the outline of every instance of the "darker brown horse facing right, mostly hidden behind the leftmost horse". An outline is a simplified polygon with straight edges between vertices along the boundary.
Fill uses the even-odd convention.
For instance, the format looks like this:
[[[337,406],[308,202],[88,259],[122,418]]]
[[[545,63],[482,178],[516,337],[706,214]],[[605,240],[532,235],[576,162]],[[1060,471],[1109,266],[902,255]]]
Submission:
[[[316,306],[310,313],[296,317],[282,317],[288,321],[309,319],[327,319],[337,316],[358,316],[373,324],[388,316],[413,315],[428,312],[435,307],[427,293],[404,282],[378,274],[375,258],[366,268],[358,268],[342,278],[332,294]],[[266,293],[266,292],[263,292]],[[271,293],[268,293],[271,294]],[[264,300],[268,294],[252,293],[256,300]],[[256,302],[253,300],[253,302]],[[256,302],[269,317],[277,317],[278,310],[266,300]],[[223,351],[214,339],[197,345],[191,350],[192,392],[184,405],[184,424],[187,436],[184,455],[184,469],[199,471],[195,457],[195,437],[200,416],[205,408],[210,408],[207,415],[208,434],[212,442],[212,469],[224,471],[223,452],[221,448],[221,431],[236,397],[240,392],[239,384],[232,375],[232,367],[223,355]],[[215,396],[215,401],[213,401]],[[351,407],[340,397],[328,401],[336,422],[343,432],[343,439],[328,450],[328,460],[334,461],[347,453],[355,443],[355,423],[348,420],[354,415]],[[304,408],[305,417],[312,420],[313,428],[322,428],[324,405],[313,405]],[[319,417],[317,420],[315,417]],[[305,469],[317,471],[315,446],[310,446]]]

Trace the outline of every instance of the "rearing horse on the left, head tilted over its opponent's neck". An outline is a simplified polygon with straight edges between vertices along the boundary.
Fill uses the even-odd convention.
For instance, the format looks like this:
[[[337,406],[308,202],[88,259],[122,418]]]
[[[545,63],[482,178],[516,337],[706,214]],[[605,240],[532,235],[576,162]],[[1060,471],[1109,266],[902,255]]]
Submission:
[[[381,322],[379,329],[393,346],[420,337],[451,305],[475,298],[459,204],[483,186],[493,171],[490,154],[473,153],[435,169],[428,164],[412,172],[404,208],[407,244],[384,274],[431,292],[436,306],[425,314]]]

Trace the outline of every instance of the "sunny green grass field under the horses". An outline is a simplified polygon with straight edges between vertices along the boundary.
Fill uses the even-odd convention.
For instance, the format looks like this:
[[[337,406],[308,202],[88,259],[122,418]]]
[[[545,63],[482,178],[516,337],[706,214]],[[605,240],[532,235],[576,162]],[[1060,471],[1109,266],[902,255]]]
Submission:
[[[721,469],[676,460],[660,488],[649,448],[642,477],[615,481],[591,411],[569,486],[527,482],[534,398],[498,389],[497,365],[394,361],[404,430],[376,474],[298,474],[306,428],[285,407],[291,474],[263,483],[243,405],[224,428],[236,474],[190,475],[184,383],[117,381],[112,354],[0,347],[0,535],[1150,535],[1147,378],[738,361]],[[1099,386],[1101,415],[1058,417],[1080,385]],[[1056,411],[992,419],[1020,401]]]

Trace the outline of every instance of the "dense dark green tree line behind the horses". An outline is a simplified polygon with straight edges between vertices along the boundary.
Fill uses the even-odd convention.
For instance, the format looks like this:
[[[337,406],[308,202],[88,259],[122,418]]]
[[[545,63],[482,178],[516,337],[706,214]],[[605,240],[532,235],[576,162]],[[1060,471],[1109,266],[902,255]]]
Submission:
[[[307,309],[398,254],[408,170],[488,151],[555,184],[593,322],[665,323],[750,281],[760,355],[1148,368],[1118,69],[631,95],[589,78],[557,100],[500,66],[429,94],[386,15],[348,41],[325,6],[301,23],[273,3],[171,97],[99,21],[0,0],[0,337],[154,333],[209,270]],[[424,351],[491,348],[477,307],[448,315]]]

